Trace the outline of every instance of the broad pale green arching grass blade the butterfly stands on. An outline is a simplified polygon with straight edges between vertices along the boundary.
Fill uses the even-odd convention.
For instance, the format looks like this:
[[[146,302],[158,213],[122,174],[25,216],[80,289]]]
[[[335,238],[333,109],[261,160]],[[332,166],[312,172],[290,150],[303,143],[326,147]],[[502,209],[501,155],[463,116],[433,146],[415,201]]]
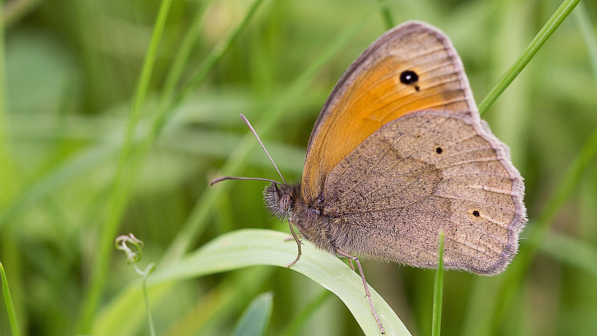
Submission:
[[[237,230],[214,239],[168,268],[157,270],[147,285],[190,279],[253,265],[286,267],[294,260],[296,244],[285,241],[290,234],[272,230]],[[365,335],[379,335],[379,327],[364,295],[361,277],[330,253],[304,242],[303,254],[291,270],[302,273],[336,294],[346,304]],[[387,335],[410,335],[396,313],[369,286],[373,304]],[[138,291],[139,289],[137,289]]]

